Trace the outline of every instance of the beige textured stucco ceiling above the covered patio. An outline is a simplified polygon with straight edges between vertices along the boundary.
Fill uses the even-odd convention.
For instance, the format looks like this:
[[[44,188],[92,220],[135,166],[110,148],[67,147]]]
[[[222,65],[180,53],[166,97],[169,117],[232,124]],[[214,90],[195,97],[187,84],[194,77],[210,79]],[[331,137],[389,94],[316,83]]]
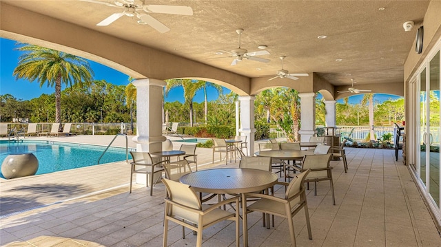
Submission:
[[[136,17],[96,26],[121,11],[88,1],[1,1],[252,78],[275,74],[281,69],[279,57],[287,56],[284,67],[290,73],[316,72],[336,86],[350,85],[350,78],[359,85],[402,82],[404,61],[429,5],[429,1],[145,1],[190,6],[194,11],[193,16],[151,14],[171,29],[161,34],[136,23]],[[404,32],[405,21],[416,23],[411,32]],[[249,52],[268,46],[270,54],[261,57],[271,59],[269,63],[246,60],[231,66],[233,58],[216,54],[238,47],[238,28],[245,30],[241,47]],[[327,38],[317,39],[320,35]]]

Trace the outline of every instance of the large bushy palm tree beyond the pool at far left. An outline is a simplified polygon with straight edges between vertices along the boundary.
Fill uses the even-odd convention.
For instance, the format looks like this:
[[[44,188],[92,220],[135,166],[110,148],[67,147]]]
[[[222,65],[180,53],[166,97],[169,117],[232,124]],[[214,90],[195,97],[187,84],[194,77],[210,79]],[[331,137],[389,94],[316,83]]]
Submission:
[[[37,80],[40,87],[47,82],[55,86],[55,122],[61,123],[61,85],[72,85],[92,80],[94,72],[87,60],[79,56],[38,45],[23,44],[17,48],[23,53],[12,73],[16,80]],[[60,125],[61,127],[61,125]]]

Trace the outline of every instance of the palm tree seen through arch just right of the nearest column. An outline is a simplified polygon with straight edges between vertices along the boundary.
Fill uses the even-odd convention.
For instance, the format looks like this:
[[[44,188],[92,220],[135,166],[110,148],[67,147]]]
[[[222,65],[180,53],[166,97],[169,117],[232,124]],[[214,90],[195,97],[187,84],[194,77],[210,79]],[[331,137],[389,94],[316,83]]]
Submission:
[[[175,87],[183,87],[185,104],[189,106],[190,126],[193,126],[193,98],[196,96],[196,92],[201,89],[205,84],[203,80],[191,80],[191,79],[171,79],[167,80],[167,86],[165,87],[165,96],[168,95],[171,89]]]

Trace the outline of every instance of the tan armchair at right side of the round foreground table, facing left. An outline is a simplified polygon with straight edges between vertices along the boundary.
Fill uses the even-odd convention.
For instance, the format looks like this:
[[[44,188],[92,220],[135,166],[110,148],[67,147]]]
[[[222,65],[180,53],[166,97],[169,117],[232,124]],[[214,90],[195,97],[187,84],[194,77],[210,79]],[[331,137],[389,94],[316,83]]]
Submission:
[[[278,182],[278,184],[285,185],[286,192],[285,197],[280,198],[274,195],[263,195],[259,193],[247,193],[247,196],[260,197],[261,199],[254,204],[247,207],[247,213],[257,211],[261,213],[267,213],[270,215],[276,215],[278,217],[284,217],[287,219],[289,226],[289,235],[291,237],[292,246],[296,246],[296,235],[294,233],[293,217],[302,208],[305,209],[306,224],[308,228],[309,239],[312,239],[311,224],[309,222],[308,204],[305,193],[305,178],[308,175],[309,170],[303,171],[296,175],[291,182]]]

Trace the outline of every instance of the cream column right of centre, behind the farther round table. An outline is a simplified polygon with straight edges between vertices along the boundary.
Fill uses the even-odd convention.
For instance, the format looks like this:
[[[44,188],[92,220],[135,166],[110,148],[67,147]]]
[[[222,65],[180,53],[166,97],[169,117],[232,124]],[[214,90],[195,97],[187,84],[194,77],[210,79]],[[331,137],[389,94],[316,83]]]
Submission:
[[[301,93],[300,97],[300,141],[307,142],[316,133],[316,94]]]

